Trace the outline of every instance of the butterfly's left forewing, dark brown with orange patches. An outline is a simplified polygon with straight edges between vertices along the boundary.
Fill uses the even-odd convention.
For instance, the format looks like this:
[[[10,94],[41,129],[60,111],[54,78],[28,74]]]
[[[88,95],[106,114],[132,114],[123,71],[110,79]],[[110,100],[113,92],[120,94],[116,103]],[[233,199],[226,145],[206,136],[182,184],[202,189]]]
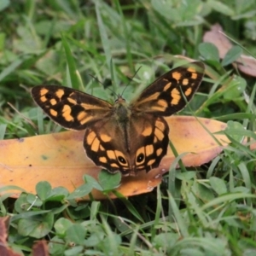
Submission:
[[[108,102],[64,86],[35,86],[32,97],[57,124],[77,131],[108,117],[113,109]]]

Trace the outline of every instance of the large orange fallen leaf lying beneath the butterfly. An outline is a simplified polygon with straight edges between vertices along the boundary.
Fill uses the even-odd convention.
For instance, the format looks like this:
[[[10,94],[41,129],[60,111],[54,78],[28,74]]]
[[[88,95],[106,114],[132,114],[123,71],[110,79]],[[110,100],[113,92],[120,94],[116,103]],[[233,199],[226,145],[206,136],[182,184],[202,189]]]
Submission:
[[[170,127],[170,140],[178,154],[183,154],[185,166],[200,166],[222,151],[210,132],[222,131],[226,125],[212,119],[195,119],[188,116],[166,118]],[[207,127],[207,130],[202,126]],[[83,175],[97,177],[101,168],[86,157],[83,148],[84,131],[64,131],[35,137],[0,141],[0,188],[15,185],[35,193],[40,181],[52,187],[63,186],[69,191],[84,183]],[[214,135],[218,141],[229,143],[224,135]],[[125,196],[147,193],[161,182],[162,174],[169,171],[175,156],[169,148],[158,168],[140,172],[137,177],[123,177],[117,189]],[[20,191],[12,191],[17,197]],[[94,190],[95,199],[105,198]],[[111,195],[114,197],[114,195]]]

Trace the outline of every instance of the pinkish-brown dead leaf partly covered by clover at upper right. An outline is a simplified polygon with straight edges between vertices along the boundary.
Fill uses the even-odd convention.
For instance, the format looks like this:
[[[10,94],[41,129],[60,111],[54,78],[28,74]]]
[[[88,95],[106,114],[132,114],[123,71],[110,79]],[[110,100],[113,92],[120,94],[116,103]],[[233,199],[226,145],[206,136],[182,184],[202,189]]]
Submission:
[[[233,46],[230,40],[224,36],[223,29],[219,24],[213,25],[211,30],[204,34],[203,41],[214,44],[218,48],[219,57],[221,59],[224,58],[224,55],[226,55]],[[248,55],[241,55],[234,65],[236,65],[242,73],[256,77],[255,58]]]

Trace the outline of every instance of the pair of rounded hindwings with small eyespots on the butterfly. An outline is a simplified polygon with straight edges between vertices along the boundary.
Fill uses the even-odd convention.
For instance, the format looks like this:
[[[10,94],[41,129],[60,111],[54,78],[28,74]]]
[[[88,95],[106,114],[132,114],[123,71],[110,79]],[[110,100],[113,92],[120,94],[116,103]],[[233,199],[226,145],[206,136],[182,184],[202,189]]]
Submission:
[[[84,148],[96,166],[133,176],[159,166],[166,155],[168,132],[162,117],[135,113],[128,123],[119,123],[112,116],[85,129]]]

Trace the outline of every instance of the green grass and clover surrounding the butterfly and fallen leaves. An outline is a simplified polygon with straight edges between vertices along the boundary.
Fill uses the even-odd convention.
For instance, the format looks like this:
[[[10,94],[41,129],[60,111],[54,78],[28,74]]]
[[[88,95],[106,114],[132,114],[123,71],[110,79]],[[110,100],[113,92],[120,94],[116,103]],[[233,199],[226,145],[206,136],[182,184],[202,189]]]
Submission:
[[[204,32],[219,22],[256,55],[254,1],[125,3],[1,1],[0,138],[60,131],[32,102],[34,85],[63,84],[113,102],[111,90],[121,93],[129,83],[124,96],[131,99],[170,70],[175,55],[186,55],[204,61],[214,78],[205,77],[190,108],[227,122],[232,143],[207,165],[172,170],[153,192],[129,199],[78,203],[76,197],[101,188],[90,177],[90,185],[73,194],[42,181],[37,195],[23,193],[15,201],[3,188],[0,216],[11,216],[9,245],[25,255],[40,239],[49,241],[50,255],[255,255],[256,154],[249,149],[255,79],[230,65],[241,48],[221,61],[214,46],[202,43]],[[90,75],[102,84],[111,80],[111,90]],[[114,186],[106,182],[103,189]]]

